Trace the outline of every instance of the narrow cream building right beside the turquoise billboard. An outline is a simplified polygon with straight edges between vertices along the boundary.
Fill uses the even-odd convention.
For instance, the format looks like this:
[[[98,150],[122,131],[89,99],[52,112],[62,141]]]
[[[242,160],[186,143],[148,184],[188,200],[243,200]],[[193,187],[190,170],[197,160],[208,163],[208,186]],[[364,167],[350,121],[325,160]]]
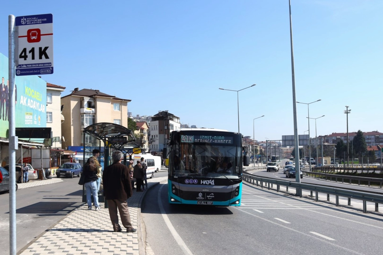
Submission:
[[[52,128],[52,148],[55,149],[61,148],[61,122],[63,121],[61,115],[61,93],[64,90],[65,87],[47,83],[47,127]]]

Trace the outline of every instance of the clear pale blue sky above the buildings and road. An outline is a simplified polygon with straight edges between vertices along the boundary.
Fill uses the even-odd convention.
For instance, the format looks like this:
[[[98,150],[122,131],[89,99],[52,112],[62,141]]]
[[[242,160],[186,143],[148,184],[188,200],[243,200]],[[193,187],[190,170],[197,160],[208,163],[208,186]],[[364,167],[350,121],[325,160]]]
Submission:
[[[292,0],[296,100],[318,135],[383,132],[383,1]],[[169,110],[182,123],[255,139],[293,135],[288,0],[7,1],[8,15],[53,14],[54,71],[43,79],[131,99],[129,112]],[[308,129],[297,104],[298,133]],[[315,136],[314,120],[310,123]],[[307,132],[306,132],[307,134]]]

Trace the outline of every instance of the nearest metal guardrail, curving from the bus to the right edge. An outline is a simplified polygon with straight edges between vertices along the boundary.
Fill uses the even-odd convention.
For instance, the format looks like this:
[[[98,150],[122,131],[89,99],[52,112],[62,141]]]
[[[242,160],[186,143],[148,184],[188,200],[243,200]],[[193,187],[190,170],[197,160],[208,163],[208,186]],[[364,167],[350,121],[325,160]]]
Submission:
[[[252,167],[254,168],[254,167]],[[247,169],[246,169],[247,170]],[[254,169],[253,169],[254,170]],[[250,170],[249,170],[250,171]],[[375,211],[379,211],[379,204],[383,204],[383,195],[353,191],[353,190],[345,190],[342,188],[334,188],[334,187],[325,187],[320,185],[313,184],[304,184],[304,183],[296,183],[292,181],[286,180],[278,180],[278,179],[270,179],[265,177],[258,177],[252,174],[242,173],[242,180],[252,183],[253,185],[261,185],[264,187],[264,183],[268,184],[268,189],[273,188],[273,184],[277,185],[277,192],[280,190],[280,186],[286,186],[286,191],[288,188],[296,188],[299,190],[300,197],[302,197],[302,190],[309,190],[311,193],[311,197],[313,196],[313,192],[315,192],[315,201],[319,200],[318,193],[326,193],[327,201],[330,201],[330,195],[335,195],[335,205],[339,206],[339,197],[346,197],[348,200],[348,205],[351,205],[351,198],[355,200],[363,201],[363,213],[367,213],[367,201],[375,203]]]

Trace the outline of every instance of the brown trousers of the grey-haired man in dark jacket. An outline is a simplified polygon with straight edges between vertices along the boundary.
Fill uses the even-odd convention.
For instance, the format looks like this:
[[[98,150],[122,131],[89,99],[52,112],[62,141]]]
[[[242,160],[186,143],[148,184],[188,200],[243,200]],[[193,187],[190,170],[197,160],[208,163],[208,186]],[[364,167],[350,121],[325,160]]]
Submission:
[[[133,229],[133,226],[130,223],[130,214],[128,210],[128,203],[126,203],[126,200],[112,199],[107,201],[108,201],[109,216],[113,225],[113,231],[121,230],[121,226],[118,224],[117,209],[120,214],[121,222],[123,226],[126,227],[126,230],[129,231]]]

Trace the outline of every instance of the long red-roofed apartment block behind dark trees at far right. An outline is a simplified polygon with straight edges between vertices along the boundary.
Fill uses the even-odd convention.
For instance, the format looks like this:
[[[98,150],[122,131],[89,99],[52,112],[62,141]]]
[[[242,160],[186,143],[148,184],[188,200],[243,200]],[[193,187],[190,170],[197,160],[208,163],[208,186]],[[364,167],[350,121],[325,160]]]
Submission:
[[[352,141],[356,134],[356,132],[349,132],[349,140]],[[367,146],[383,144],[383,133],[378,131],[363,132],[363,136],[366,139]],[[319,138],[324,138],[324,143],[337,143],[339,139],[347,143],[347,133],[332,133],[331,135],[318,136],[318,139]]]

